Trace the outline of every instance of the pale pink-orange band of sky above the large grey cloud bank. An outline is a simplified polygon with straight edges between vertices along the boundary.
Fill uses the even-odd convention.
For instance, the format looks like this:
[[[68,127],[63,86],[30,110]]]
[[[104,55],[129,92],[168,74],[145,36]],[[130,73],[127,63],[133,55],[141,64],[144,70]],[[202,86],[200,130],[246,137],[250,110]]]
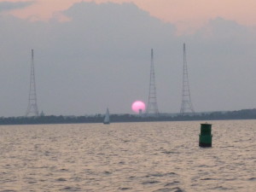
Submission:
[[[0,2],[6,2],[0,0]],[[81,0],[12,0],[7,2],[29,2],[26,9],[15,9],[13,13],[22,18],[33,20],[49,20],[52,15],[58,15],[61,10],[70,8],[73,3]],[[222,17],[235,20],[246,26],[255,26],[256,1],[247,0],[84,0],[95,3],[135,3],[140,9],[147,11],[160,20],[171,22],[178,27],[178,32],[194,32],[207,20]]]

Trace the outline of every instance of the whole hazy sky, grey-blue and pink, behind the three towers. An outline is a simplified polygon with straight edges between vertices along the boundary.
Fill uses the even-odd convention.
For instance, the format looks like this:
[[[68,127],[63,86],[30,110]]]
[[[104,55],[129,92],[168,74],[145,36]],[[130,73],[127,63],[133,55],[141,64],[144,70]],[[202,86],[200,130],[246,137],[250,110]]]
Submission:
[[[255,108],[255,1],[0,0],[0,115],[26,113],[31,49],[39,111],[132,113],[147,104],[154,49],[158,108],[181,106],[183,43],[196,112]]]

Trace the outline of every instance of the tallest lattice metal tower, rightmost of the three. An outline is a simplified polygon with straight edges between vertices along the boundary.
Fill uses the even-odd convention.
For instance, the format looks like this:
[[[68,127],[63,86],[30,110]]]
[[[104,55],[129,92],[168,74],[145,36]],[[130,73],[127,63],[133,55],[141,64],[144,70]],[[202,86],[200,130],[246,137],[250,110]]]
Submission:
[[[195,110],[191,102],[191,97],[190,97],[189,75],[188,75],[185,44],[183,44],[183,97],[182,97],[182,105],[180,108],[180,113],[182,115],[184,113],[195,113]]]

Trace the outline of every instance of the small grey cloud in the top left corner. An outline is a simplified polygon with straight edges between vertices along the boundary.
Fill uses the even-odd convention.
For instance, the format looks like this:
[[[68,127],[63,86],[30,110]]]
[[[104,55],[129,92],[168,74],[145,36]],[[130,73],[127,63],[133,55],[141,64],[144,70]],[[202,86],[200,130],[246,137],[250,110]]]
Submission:
[[[0,2],[0,13],[13,9],[23,9],[35,3],[34,1],[29,2]]]

